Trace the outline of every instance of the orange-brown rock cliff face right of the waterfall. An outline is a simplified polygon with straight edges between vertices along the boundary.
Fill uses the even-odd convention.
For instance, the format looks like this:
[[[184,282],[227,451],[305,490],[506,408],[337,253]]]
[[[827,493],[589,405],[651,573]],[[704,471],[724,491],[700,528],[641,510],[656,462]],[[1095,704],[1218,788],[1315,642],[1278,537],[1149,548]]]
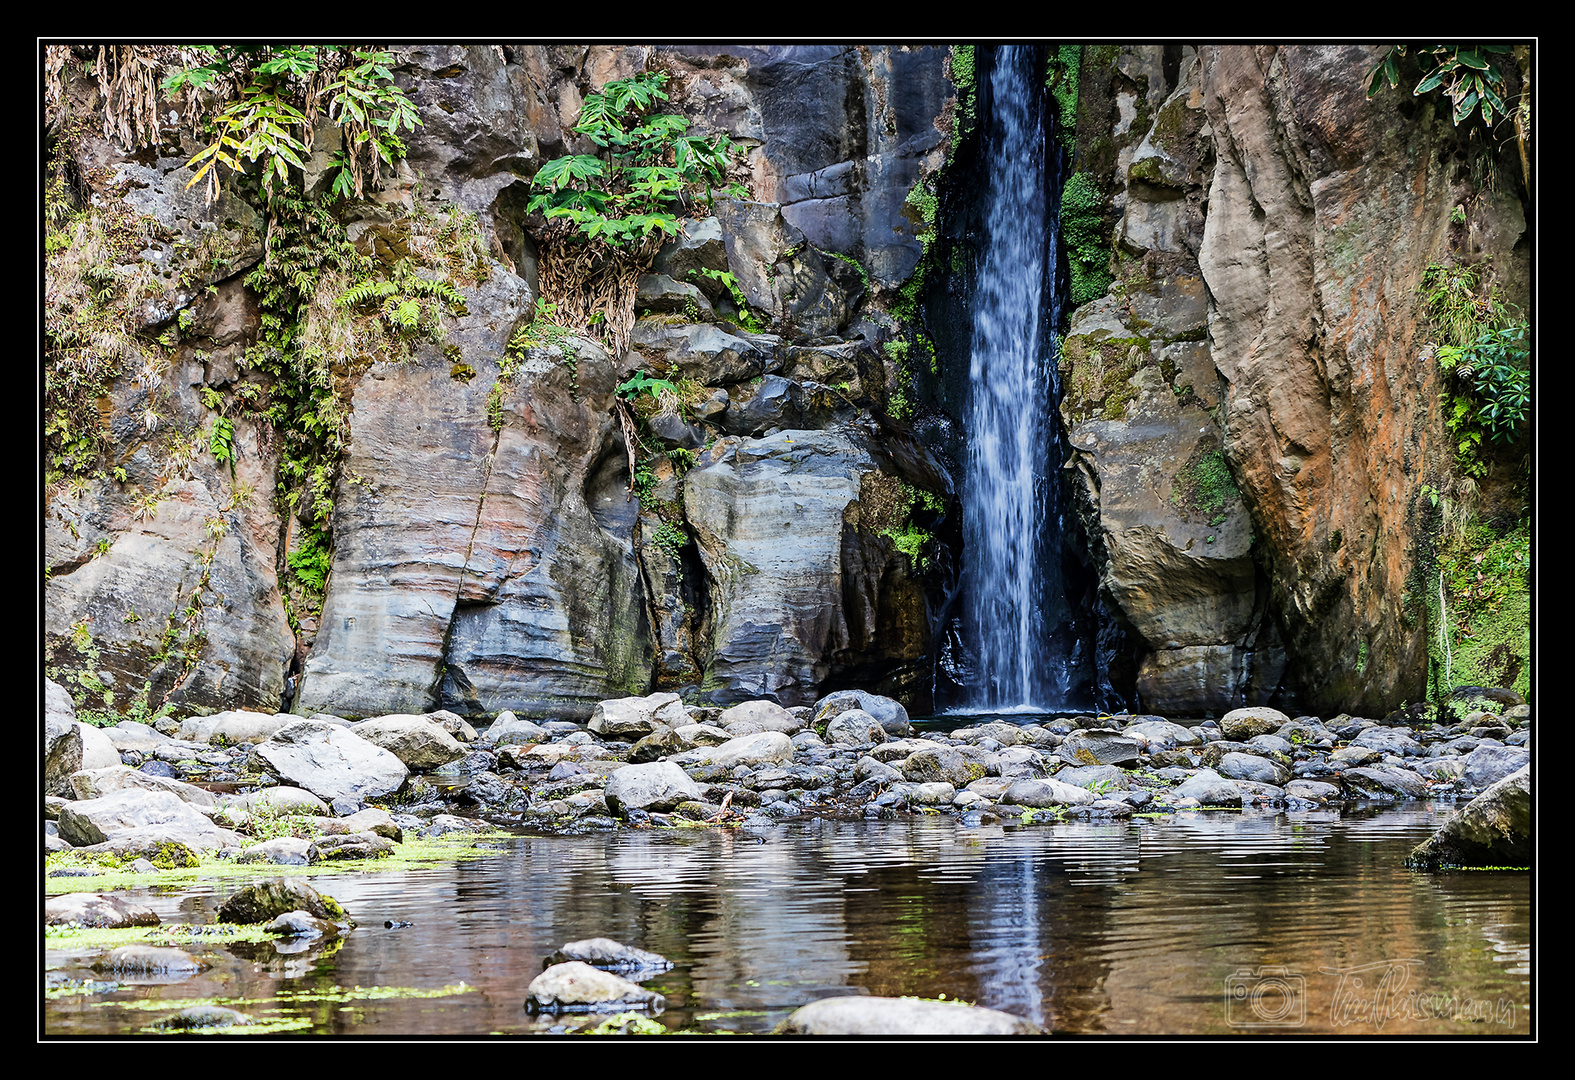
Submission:
[[[1143,705],[1421,697],[1419,479],[1452,452],[1422,274],[1471,202],[1523,288],[1518,200],[1432,104],[1366,99],[1380,49],[1087,52],[1074,167],[1114,190],[1118,276],[1073,315],[1062,414]]]

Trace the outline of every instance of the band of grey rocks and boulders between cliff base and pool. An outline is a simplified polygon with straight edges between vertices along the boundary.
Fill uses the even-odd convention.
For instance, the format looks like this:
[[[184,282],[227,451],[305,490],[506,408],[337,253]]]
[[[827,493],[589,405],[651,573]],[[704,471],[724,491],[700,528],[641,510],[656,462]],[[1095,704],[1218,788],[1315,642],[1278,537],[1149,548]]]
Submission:
[[[96,729],[76,723],[50,686],[46,852],[154,866],[205,852],[287,864],[375,858],[408,833],[491,827],[750,831],[914,812],[1032,825],[1466,800],[1531,757],[1529,707],[1484,688],[1383,721],[1252,707],[1194,726],[1046,716],[915,732],[901,704],[863,691],[799,708],[650,694],[605,701],[586,724],[504,712],[484,730],[447,712],[354,723],[224,712]]]

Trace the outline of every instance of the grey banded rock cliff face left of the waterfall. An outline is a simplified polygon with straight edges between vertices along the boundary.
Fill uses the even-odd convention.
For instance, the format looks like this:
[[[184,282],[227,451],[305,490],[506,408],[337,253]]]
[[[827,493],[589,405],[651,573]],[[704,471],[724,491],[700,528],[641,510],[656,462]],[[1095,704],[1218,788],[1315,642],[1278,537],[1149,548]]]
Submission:
[[[63,203],[110,206],[83,216],[101,231],[120,206],[146,214],[154,239],[87,250],[83,225],[74,242],[93,266],[52,266],[50,302],[85,309],[66,294],[83,272],[165,260],[167,274],[150,276],[153,299],[129,315],[132,290],[102,305],[120,309],[117,348],[156,338],[158,356],[151,373],[117,365],[98,405],[102,461],[117,468],[49,493],[47,666],[69,672],[83,704],[121,710],[276,708],[295,666],[295,710],[345,716],[449,707],[583,719],[597,701],[652,686],[789,705],[850,679],[910,686],[929,627],[895,545],[910,516],[902,485],[943,494],[945,475],[871,417],[888,379],[860,335],[877,334],[865,321],[873,293],[921,253],[901,206],[940,143],[943,58],[929,47],[395,50],[424,123],[378,192],[337,206],[339,224],[394,266],[416,255],[413,216],[436,213],[439,231],[474,228],[463,241],[479,271],[474,283],[449,276],[461,302],[441,343],[369,353],[332,338],[348,412],[337,483],[321,493],[332,562],[320,619],[307,606],[295,625],[280,581],[310,520],[269,499],[279,433],[261,409],[214,411],[238,387],[249,403],[279,394],[247,353],[258,310],[241,280],[263,258],[265,222],[228,190],[213,206],[186,190],[202,145],[189,129],[167,128],[151,151],[104,135],[102,85],[68,66],[52,126],[74,184]],[[584,94],[652,61],[673,76],[676,112],[743,146],[742,178],[765,202],[720,200],[715,217],[685,224],[641,282],[625,354],[558,332],[515,348],[539,296],[521,176],[595,153],[572,131]],[[326,189],[335,139],[320,124],[309,192]],[[732,298],[699,271],[731,272],[772,332],[718,321]],[[318,285],[309,307],[331,315],[346,283]],[[636,372],[682,400],[635,395],[628,431],[614,389]],[[233,452],[213,450],[232,438]]]

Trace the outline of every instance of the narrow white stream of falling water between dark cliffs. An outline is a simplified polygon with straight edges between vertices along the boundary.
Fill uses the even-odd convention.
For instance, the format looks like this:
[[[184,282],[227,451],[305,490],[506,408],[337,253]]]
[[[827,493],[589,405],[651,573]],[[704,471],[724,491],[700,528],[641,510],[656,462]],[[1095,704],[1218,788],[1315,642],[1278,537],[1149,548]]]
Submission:
[[[1047,118],[1035,50],[1003,47],[992,98],[984,236],[973,293],[970,416],[964,499],[965,619],[976,647],[969,702],[1035,708],[1068,697],[1055,628],[1058,573],[1052,290],[1055,228],[1046,213]]]

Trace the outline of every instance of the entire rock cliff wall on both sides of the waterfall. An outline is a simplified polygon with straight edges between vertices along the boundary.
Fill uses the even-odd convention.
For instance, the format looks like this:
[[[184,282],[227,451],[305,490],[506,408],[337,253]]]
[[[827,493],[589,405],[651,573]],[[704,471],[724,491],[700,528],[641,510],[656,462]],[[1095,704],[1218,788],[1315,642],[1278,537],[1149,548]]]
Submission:
[[[1452,449],[1419,285],[1455,206],[1514,299],[1529,238],[1507,186],[1465,178],[1447,117],[1366,99],[1380,55],[1085,49],[1071,167],[1104,200],[1115,283],[1071,315],[1062,420],[1143,708],[1422,693],[1419,483]],[[203,143],[181,101],[145,88],[140,140],[106,121],[142,83],[83,57],[46,132],[44,652],[79,704],[276,708],[287,677],[296,712],[346,716],[583,719],[654,688],[923,699],[939,583],[915,521],[954,497],[890,422],[879,346],[925,253],[910,192],[947,151],[945,49],[395,49],[422,128],[323,230],[384,274],[424,258],[458,301],[446,337],[406,342],[334,321],[348,280],[299,298],[348,438],[291,507],[280,480],[315,480],[249,283],[279,225],[255,186],[187,190]],[[610,354],[542,329],[529,176],[595,153],[584,94],[652,65],[674,112],[743,150],[753,198],[685,222]],[[320,123],[309,194],[334,139]],[[619,394],[636,373],[666,386]],[[332,532],[320,617],[288,584],[312,513]]]

